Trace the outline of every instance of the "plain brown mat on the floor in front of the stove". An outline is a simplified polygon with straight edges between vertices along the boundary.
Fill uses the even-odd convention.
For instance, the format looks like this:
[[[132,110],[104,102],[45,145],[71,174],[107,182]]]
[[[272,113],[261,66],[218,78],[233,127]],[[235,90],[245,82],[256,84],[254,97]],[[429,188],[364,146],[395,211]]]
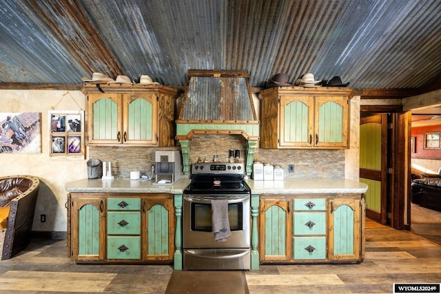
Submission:
[[[174,271],[165,294],[248,294],[243,271]]]

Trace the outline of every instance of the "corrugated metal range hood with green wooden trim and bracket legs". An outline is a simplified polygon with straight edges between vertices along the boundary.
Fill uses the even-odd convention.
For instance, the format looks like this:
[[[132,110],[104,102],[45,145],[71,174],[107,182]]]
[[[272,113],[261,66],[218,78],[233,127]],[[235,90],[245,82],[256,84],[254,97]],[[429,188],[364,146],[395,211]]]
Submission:
[[[189,70],[176,120],[184,174],[189,174],[189,144],[194,134],[238,134],[247,139],[247,175],[251,175],[259,124],[243,70]]]

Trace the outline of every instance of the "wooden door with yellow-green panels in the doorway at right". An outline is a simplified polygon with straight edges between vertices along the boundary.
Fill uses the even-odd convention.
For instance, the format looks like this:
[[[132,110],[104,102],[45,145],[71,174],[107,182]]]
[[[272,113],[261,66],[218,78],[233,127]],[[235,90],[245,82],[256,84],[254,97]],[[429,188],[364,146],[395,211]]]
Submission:
[[[360,182],[368,185],[366,216],[387,224],[387,114],[360,119]]]

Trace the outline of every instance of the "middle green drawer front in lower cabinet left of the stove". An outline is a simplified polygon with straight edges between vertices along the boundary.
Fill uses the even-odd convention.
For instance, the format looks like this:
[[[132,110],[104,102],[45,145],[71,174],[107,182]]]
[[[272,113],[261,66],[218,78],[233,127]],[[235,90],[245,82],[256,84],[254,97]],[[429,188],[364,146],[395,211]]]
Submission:
[[[107,212],[107,235],[139,235],[141,233],[141,213]]]

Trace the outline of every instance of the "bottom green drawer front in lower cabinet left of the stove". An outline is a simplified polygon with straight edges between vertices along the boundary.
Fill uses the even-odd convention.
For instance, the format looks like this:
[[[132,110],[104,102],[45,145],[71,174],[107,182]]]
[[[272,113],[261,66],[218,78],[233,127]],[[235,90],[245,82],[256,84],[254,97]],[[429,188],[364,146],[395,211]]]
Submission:
[[[141,237],[107,237],[108,260],[139,260],[141,259]]]

